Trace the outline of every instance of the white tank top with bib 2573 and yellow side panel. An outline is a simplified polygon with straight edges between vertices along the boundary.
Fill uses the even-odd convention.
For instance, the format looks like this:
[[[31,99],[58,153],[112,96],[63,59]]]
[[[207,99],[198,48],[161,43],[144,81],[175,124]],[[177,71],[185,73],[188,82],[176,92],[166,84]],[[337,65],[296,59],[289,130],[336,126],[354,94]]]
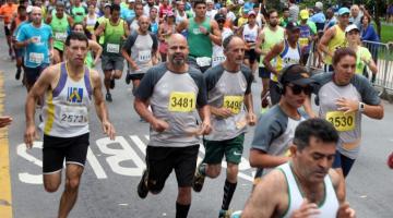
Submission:
[[[74,137],[88,133],[88,110],[92,101],[90,71],[83,78],[69,77],[66,63],[60,64],[60,78],[53,90],[45,94],[44,134]]]

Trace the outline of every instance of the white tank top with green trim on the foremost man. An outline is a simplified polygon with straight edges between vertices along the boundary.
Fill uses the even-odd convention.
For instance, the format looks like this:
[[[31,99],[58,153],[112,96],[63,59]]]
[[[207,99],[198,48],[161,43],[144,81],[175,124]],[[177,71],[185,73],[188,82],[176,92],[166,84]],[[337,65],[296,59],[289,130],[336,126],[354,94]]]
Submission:
[[[303,196],[295,180],[289,162],[279,166],[278,169],[284,172],[289,190],[288,194],[290,201],[288,202],[287,211],[285,216],[283,216],[284,218],[289,218],[296,209],[300,208],[301,203],[303,202]],[[338,201],[329,174],[326,174],[323,182],[325,187],[325,196],[322,204],[319,205],[318,209],[320,210],[320,214],[315,216],[315,218],[336,217],[338,210]]]

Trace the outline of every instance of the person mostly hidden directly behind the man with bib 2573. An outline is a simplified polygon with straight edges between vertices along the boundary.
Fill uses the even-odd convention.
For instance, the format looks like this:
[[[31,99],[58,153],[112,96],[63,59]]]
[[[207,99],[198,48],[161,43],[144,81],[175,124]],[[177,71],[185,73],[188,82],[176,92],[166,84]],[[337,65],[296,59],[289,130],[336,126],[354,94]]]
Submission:
[[[84,25],[82,23],[76,23],[72,26],[72,31],[76,32],[76,33],[83,33],[87,36],[88,38],[88,52],[85,59],[85,64],[92,69],[94,68],[99,58],[100,55],[103,53],[103,47],[99,46],[99,44],[97,44],[95,40],[92,40],[92,35],[90,34],[90,32],[84,27]],[[93,59],[93,57],[95,57]]]

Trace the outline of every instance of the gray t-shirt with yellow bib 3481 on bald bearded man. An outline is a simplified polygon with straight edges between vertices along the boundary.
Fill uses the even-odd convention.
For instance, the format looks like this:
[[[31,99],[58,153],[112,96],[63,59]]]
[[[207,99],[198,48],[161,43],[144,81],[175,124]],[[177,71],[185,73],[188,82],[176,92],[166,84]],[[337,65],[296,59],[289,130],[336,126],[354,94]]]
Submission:
[[[155,65],[143,76],[135,97],[148,100],[153,114],[169,124],[162,133],[151,128],[148,146],[200,144],[200,137],[190,134],[198,129],[196,108],[207,105],[206,85],[200,71],[190,66],[187,73],[175,73],[166,63]]]

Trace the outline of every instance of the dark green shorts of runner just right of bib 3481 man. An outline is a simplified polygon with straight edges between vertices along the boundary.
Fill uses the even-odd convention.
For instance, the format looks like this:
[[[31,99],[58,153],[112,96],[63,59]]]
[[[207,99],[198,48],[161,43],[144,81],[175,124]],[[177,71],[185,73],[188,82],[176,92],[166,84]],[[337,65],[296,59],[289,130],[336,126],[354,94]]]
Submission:
[[[227,162],[238,165],[241,161],[243,150],[245,133],[224,141],[207,141],[204,140],[205,157],[203,162],[210,165],[219,165],[223,161],[224,155]]]

